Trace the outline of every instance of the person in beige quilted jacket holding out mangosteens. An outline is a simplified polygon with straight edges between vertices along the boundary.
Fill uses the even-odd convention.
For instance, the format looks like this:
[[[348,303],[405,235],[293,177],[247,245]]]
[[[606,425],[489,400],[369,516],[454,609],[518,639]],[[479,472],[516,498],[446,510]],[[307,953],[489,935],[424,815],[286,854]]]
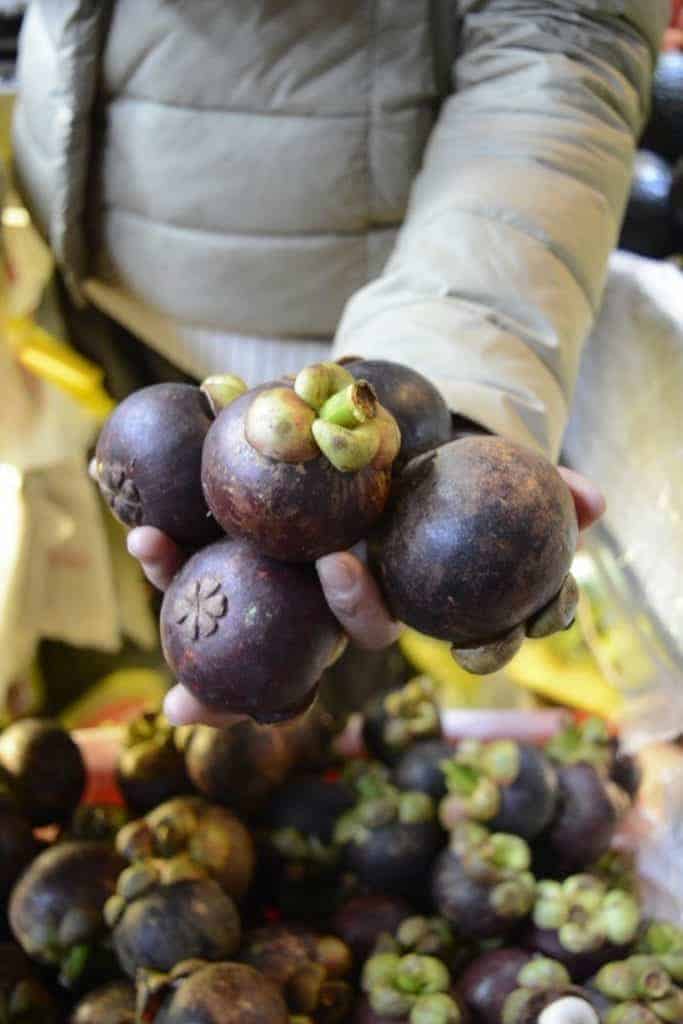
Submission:
[[[33,0],[17,185],[76,305],[195,378],[358,354],[557,460],[669,0]],[[563,470],[583,526],[602,512]],[[180,553],[130,552],[163,588]],[[357,642],[399,626],[318,563]],[[174,721],[215,721],[181,688]]]

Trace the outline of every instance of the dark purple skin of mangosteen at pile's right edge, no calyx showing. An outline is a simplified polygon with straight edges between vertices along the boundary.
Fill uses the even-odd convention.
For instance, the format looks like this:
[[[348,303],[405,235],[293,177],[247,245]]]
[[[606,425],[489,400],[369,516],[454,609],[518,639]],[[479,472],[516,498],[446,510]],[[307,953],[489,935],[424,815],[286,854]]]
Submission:
[[[557,870],[571,873],[607,852],[618,816],[593,765],[564,765],[557,775],[558,809],[543,842]]]

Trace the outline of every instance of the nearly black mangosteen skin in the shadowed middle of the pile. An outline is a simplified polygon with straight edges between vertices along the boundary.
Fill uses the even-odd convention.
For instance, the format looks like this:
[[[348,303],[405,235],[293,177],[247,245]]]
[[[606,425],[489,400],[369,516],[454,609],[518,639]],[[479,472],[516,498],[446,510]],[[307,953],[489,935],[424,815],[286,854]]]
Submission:
[[[292,778],[273,795],[264,823],[268,828],[296,828],[328,845],[337,818],[353,806],[354,798],[341,782],[316,775]]]

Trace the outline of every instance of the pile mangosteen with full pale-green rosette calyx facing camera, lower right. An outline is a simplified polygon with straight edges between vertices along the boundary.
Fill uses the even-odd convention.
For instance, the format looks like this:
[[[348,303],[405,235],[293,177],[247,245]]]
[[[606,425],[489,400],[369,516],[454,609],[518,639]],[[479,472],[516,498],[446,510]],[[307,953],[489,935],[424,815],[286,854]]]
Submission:
[[[564,882],[538,884],[524,944],[564,964],[572,979],[582,982],[603,964],[629,954],[640,921],[630,893],[608,888],[594,874],[573,874]]]

